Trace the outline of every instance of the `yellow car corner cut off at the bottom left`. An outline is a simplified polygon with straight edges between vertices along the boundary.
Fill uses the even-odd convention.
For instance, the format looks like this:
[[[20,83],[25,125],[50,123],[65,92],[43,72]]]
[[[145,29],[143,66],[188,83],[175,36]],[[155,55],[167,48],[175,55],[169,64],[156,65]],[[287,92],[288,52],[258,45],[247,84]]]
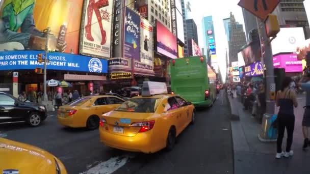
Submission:
[[[67,171],[59,159],[40,148],[0,138],[0,173],[66,174]]]

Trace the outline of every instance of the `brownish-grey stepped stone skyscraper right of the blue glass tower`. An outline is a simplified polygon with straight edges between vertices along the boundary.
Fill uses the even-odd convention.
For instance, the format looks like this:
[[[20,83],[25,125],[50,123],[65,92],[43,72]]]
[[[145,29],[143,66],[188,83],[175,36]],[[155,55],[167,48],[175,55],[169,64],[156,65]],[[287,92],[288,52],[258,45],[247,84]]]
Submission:
[[[241,47],[246,44],[243,25],[236,21],[235,16],[231,12],[229,36],[229,67],[231,67],[231,62],[238,62],[238,52],[240,51]]]

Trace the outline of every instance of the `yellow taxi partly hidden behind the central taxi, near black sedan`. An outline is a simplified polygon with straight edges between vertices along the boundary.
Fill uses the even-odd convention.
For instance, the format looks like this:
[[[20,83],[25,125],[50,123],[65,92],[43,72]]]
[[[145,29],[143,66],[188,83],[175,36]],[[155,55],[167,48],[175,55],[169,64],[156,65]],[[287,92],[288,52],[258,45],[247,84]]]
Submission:
[[[59,107],[58,122],[66,127],[86,127],[89,130],[97,129],[99,116],[107,113],[124,102],[115,96],[95,95],[86,96]]]

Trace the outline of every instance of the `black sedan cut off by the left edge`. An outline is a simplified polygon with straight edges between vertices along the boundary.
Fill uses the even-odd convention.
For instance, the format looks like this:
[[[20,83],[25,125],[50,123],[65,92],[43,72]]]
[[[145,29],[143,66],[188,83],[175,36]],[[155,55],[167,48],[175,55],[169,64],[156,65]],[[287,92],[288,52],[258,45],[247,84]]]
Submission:
[[[27,122],[35,127],[39,126],[46,116],[45,106],[21,102],[10,94],[0,92],[0,124]]]

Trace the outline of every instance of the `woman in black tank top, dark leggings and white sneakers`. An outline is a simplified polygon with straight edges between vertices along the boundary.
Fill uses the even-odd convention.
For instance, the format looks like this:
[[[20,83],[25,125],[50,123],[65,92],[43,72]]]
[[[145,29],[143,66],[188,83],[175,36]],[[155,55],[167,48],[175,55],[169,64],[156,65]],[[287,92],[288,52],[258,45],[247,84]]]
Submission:
[[[294,90],[290,89],[291,81],[292,79],[290,77],[286,77],[282,83],[282,89],[278,91],[276,96],[276,104],[277,106],[280,106],[277,117],[278,139],[276,158],[281,158],[282,156],[289,157],[293,155],[293,151],[291,150],[295,125],[293,106],[297,107],[298,103]],[[287,147],[286,152],[282,152],[282,140],[285,129],[287,129],[288,134]]]

